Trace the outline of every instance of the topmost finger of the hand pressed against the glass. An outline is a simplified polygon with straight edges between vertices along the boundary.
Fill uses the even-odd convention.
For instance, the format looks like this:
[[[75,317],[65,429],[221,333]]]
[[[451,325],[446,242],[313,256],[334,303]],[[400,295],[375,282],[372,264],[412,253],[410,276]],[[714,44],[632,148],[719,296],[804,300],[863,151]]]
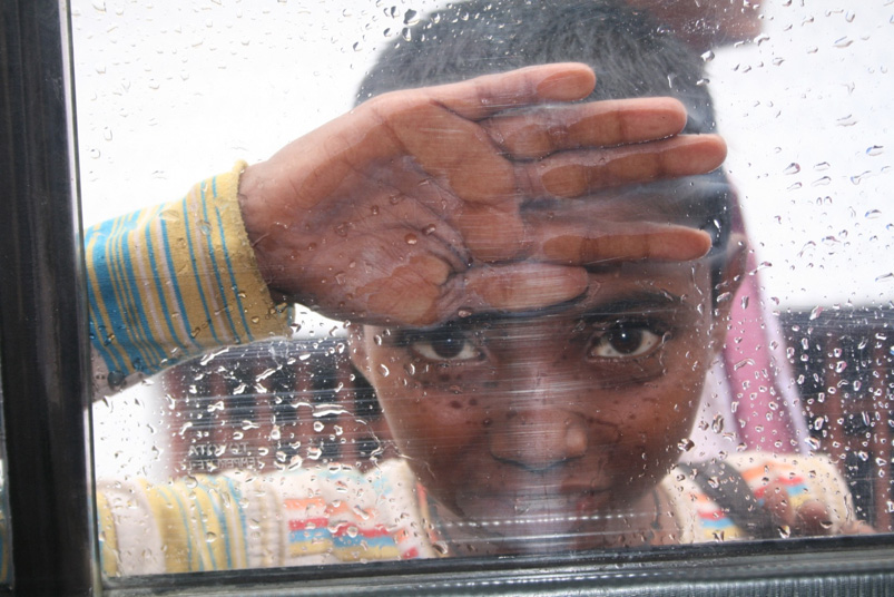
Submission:
[[[477,77],[426,92],[463,118],[481,120],[508,108],[583,99],[595,85],[596,75],[587,65],[560,62]]]

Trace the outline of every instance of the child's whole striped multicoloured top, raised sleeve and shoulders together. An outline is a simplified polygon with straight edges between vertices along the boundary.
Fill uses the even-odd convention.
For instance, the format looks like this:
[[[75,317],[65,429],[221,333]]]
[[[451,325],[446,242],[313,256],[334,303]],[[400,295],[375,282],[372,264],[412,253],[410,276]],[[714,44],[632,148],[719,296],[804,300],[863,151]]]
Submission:
[[[244,167],[205,180],[180,202],[87,231],[98,391],[213,348],[287,335],[286,315],[257,271],[239,216]],[[741,453],[728,461],[758,498],[778,480],[794,506],[824,501],[833,515],[831,532],[853,516],[846,486],[825,459]],[[671,471],[661,488],[680,527],[679,542],[743,535],[689,477]],[[422,495],[400,460],[365,474],[331,466],[158,486],[100,482],[102,568],[115,576],[444,555]]]

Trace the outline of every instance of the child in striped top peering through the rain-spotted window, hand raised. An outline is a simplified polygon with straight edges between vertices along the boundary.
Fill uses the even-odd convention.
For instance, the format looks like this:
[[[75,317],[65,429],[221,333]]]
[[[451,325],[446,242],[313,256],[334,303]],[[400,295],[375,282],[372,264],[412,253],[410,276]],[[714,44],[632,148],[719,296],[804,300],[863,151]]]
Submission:
[[[822,459],[674,470],[746,252],[699,57],[609,1],[470,2],[411,39],[374,99],[88,239],[98,383],[285,334],[287,297],[351,321],[403,458],[106,485],[106,571],[846,528]]]

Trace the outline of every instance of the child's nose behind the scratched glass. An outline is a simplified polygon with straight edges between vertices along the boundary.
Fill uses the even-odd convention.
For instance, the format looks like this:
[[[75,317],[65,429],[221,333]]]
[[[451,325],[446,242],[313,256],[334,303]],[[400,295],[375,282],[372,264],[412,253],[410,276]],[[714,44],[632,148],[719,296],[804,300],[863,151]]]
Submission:
[[[541,471],[587,453],[583,415],[572,408],[576,392],[553,366],[528,361],[509,385],[502,412],[489,428],[491,454],[529,470]]]

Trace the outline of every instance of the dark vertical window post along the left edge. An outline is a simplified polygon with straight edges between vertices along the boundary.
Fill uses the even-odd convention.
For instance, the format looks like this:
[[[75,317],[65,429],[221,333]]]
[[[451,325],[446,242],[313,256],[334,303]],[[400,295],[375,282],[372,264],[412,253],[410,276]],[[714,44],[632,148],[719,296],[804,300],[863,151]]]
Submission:
[[[68,10],[58,0],[0,7],[0,362],[14,587],[88,595],[96,541]]]

